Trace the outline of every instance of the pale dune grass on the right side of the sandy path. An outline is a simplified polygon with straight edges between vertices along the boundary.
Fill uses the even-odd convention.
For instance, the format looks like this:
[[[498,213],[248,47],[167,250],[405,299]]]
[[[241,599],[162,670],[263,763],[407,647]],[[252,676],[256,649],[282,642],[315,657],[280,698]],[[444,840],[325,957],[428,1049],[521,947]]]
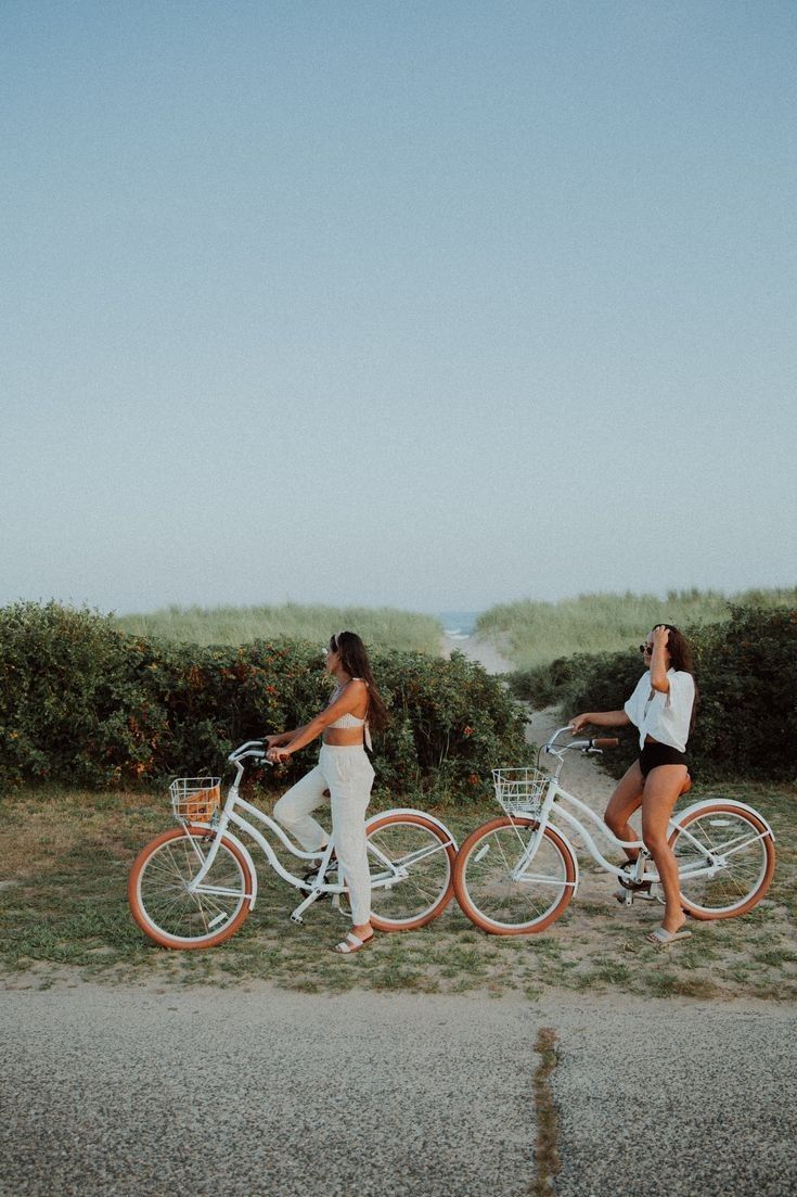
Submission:
[[[620,652],[637,644],[659,622],[688,627],[722,622],[731,606],[779,607],[797,604],[797,588],[744,590],[671,590],[664,597],[632,594],[586,594],[559,602],[522,600],[483,612],[476,621],[479,636],[516,669],[549,664],[577,652]]]

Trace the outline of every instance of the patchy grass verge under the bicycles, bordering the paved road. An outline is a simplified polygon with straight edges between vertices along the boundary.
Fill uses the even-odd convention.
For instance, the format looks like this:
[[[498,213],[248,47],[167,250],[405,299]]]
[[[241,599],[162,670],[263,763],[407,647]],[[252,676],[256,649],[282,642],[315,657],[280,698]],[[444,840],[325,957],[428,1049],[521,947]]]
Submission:
[[[141,846],[170,826],[164,795],[22,791],[0,803],[5,828],[0,970],[6,984],[35,986],[53,984],[66,970],[75,979],[133,984],[227,986],[258,978],[311,992],[353,986],[479,990],[487,996],[522,992],[533,999],[566,989],[793,999],[797,791],[740,784],[723,794],[748,801],[772,821],[779,852],[772,889],[743,918],[693,924],[693,938],[670,949],[665,960],[644,942],[662,907],[620,909],[612,898],[612,879],[585,869],[579,893],[542,935],[485,935],[452,901],[427,928],[378,935],[353,961],[329,952],[346,930],[341,913],[321,901],[304,925],[292,924],[297,893],[264,862],[255,910],[231,940],[206,952],[156,947],[129,916],[126,885]],[[407,803],[416,804],[412,795]],[[438,814],[461,843],[495,810],[485,806],[467,814],[456,809]]]

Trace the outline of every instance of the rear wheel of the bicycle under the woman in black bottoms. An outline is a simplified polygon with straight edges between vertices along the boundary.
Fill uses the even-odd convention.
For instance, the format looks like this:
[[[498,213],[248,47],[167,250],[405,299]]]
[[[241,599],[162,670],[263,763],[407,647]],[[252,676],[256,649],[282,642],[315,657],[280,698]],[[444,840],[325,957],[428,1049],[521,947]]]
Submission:
[[[685,910],[699,919],[736,918],[753,910],[769,888],[775,867],[774,844],[761,816],[735,802],[712,802],[679,824],[669,843],[679,862]],[[714,852],[731,846],[726,867],[713,877],[689,881],[688,874],[683,876],[690,862],[705,861],[685,831]],[[748,838],[737,844],[740,836]]]

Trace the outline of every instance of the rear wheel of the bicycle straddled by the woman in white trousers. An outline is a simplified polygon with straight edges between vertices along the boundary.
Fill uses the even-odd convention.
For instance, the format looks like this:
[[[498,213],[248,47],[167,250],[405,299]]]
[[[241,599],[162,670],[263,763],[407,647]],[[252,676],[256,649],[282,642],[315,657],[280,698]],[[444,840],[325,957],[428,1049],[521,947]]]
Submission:
[[[378,931],[414,931],[443,913],[454,895],[456,849],[445,830],[422,812],[385,814],[367,828],[371,924]],[[379,886],[385,875],[376,852],[407,869],[407,877]]]

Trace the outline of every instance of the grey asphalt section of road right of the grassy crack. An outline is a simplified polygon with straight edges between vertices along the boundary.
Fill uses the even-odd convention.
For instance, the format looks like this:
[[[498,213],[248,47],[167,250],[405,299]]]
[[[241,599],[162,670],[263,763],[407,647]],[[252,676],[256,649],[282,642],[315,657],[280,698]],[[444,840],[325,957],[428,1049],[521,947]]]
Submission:
[[[568,1004],[558,1197],[797,1192],[796,1033],[772,1003]]]

